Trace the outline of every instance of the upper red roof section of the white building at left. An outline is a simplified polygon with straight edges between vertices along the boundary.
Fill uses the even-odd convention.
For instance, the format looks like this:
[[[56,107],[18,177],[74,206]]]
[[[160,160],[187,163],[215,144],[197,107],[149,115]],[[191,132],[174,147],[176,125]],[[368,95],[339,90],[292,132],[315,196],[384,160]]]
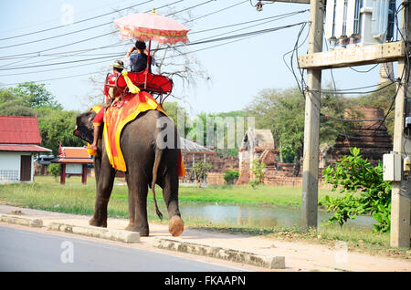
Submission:
[[[0,116],[0,144],[41,145],[37,117]]]

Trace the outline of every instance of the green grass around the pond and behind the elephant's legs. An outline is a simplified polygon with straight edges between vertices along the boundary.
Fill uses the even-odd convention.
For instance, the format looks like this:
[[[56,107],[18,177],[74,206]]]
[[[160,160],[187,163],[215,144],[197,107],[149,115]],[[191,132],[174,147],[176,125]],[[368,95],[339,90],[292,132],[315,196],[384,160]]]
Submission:
[[[116,179],[115,184],[119,183],[122,183],[122,180]],[[33,183],[0,185],[0,202],[45,211],[92,215],[95,192],[95,180],[92,178],[84,186],[81,184],[79,177],[73,176],[67,178],[66,185],[62,186],[52,177],[36,176]],[[166,209],[161,189],[159,188],[156,192],[160,211],[165,213]],[[338,193],[320,189],[319,199],[326,194],[335,196]],[[249,186],[209,186],[206,188],[182,186],[180,187],[179,201],[181,203],[276,205],[299,209],[300,196],[299,187],[258,186],[257,189],[252,189]],[[149,193],[148,201],[149,221],[151,223],[160,223],[155,214],[151,193]],[[111,217],[128,218],[127,186],[114,186],[108,212]],[[167,223],[166,214],[162,223]],[[307,233],[302,232],[296,226],[293,228],[233,226],[232,224],[216,224],[199,219],[184,220],[184,223],[191,228],[225,233],[264,235],[268,238],[275,237],[286,241],[306,241],[329,245],[335,244],[336,241],[345,241],[350,250],[411,258],[409,251],[389,247],[389,233],[373,233],[371,229],[340,228],[336,225],[333,227],[320,226],[317,231]]]

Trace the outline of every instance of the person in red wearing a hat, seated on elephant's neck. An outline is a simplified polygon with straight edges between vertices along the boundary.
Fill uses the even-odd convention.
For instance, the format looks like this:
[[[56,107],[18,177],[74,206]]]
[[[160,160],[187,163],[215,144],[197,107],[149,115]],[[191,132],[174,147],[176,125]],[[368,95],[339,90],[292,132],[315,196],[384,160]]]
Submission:
[[[124,69],[124,64],[120,59],[117,59],[112,65],[112,74],[107,77],[107,81],[111,85],[115,85],[116,78]],[[108,100],[115,99],[117,96],[116,88],[109,88],[109,91],[104,88],[106,95],[106,103]],[[104,119],[104,109],[100,109],[99,113],[93,119],[93,142],[89,146],[84,146],[86,149],[97,150],[97,140],[99,140],[100,128]]]

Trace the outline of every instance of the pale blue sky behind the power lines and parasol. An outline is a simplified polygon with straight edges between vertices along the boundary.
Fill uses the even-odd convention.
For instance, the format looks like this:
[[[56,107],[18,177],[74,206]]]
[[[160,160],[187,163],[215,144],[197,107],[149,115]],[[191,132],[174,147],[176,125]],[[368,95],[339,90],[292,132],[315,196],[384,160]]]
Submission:
[[[309,5],[263,2],[265,5],[258,12],[253,6],[256,3],[257,0],[6,1],[2,3],[0,17],[0,88],[38,81],[46,85],[64,109],[89,109],[90,98],[95,101],[96,96],[101,95],[102,82],[111,71],[113,61],[123,57],[131,47],[130,41],[121,41],[112,20],[154,7],[156,13],[163,16],[177,12],[174,15],[177,20],[191,29],[188,34],[191,44],[295,25],[264,34],[178,48],[188,53],[186,56],[190,59],[196,59],[207,78],[190,84],[174,79],[177,98],[168,100],[177,100],[192,116],[201,112],[246,109],[263,89],[297,86],[284,59],[290,63],[290,54],[286,54],[294,48],[300,23],[307,22],[310,16],[309,11],[287,16],[307,10]],[[134,7],[124,9],[132,5]],[[163,5],[168,6],[161,8]],[[238,25],[245,22],[248,23]],[[306,53],[304,39],[308,31],[309,27],[305,26],[301,33],[300,55]],[[112,56],[115,54],[118,56]],[[360,71],[370,68],[373,66],[355,67]],[[376,85],[379,66],[366,73],[351,68],[323,70],[323,85],[331,84],[332,78],[340,89]]]

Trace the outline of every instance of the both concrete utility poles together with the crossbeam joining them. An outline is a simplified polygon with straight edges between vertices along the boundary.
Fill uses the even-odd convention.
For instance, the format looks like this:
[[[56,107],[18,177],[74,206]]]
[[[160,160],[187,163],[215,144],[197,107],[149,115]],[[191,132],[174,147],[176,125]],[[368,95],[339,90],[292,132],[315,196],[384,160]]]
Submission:
[[[395,135],[393,150],[402,160],[411,153],[411,128],[405,136],[405,119],[411,117],[411,86],[409,84],[410,57],[408,42],[411,41],[411,9],[409,0],[402,5],[401,34],[396,42],[346,47],[322,52],[322,21],[325,0],[277,0],[286,3],[310,3],[311,30],[307,55],[299,56],[299,67],[307,69],[308,93],[305,100],[304,154],[302,170],[301,227],[317,227],[318,169],[320,142],[321,69],[354,67],[398,61],[398,93],[395,98]],[[404,74],[403,74],[404,72]],[[407,98],[408,96],[408,98]],[[411,126],[410,126],[411,127]],[[411,158],[411,156],[409,156]],[[403,163],[402,163],[403,164]],[[393,181],[391,199],[391,246],[409,248],[410,245],[410,200],[411,171],[401,181]],[[408,181],[409,180],[409,181]]]

